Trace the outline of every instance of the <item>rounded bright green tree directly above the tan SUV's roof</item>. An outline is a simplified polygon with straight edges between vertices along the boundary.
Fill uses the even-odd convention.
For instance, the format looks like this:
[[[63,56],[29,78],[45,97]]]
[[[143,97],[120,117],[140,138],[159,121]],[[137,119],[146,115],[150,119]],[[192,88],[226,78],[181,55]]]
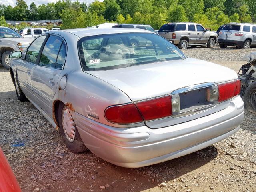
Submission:
[[[175,5],[170,7],[167,12],[167,21],[169,22],[188,21],[185,9],[181,5]]]

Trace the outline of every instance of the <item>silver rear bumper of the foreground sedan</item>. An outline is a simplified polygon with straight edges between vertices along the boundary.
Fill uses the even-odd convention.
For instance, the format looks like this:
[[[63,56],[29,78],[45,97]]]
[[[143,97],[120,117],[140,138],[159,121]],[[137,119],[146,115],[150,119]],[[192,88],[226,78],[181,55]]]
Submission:
[[[72,113],[91,152],[118,166],[135,168],[184,156],[234,134],[244,118],[243,106],[238,96],[224,110],[159,129],[114,128]]]

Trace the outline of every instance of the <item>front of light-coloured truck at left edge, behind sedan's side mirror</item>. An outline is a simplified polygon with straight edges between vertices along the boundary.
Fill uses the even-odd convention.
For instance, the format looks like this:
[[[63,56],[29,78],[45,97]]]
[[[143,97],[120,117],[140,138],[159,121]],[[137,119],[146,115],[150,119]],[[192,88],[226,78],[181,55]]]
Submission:
[[[16,31],[8,27],[0,26],[0,61],[4,68],[9,70],[10,59],[9,54],[13,51],[24,52],[28,48],[33,39],[25,39]]]

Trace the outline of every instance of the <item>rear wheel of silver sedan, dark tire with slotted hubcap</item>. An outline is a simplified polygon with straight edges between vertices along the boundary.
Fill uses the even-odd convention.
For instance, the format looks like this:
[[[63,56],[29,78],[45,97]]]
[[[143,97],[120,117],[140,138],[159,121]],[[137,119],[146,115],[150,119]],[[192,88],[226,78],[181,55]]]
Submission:
[[[59,122],[59,131],[60,134],[62,136],[62,138],[64,139],[64,143],[66,144],[67,148],[72,151],[73,153],[81,153],[84,152],[86,150],[88,150],[88,148],[84,145],[84,142],[82,141],[80,134],[76,128],[76,124],[74,123],[73,120],[73,125],[70,125],[70,118],[72,118],[72,115],[70,113],[68,113],[67,111],[70,112],[70,109],[68,106],[64,105],[63,103],[60,103],[60,106],[58,108],[58,122]],[[66,123],[65,121],[65,116],[66,118],[69,119],[69,123]],[[63,123],[64,120],[64,123]],[[64,127],[63,125],[66,123],[66,128],[64,131]],[[74,136],[74,139],[72,141],[70,141],[70,137],[68,137],[68,124],[70,127],[73,127],[73,130],[75,134],[72,134],[72,136]],[[65,133],[66,132],[66,133]],[[71,132],[70,132],[71,133]]]

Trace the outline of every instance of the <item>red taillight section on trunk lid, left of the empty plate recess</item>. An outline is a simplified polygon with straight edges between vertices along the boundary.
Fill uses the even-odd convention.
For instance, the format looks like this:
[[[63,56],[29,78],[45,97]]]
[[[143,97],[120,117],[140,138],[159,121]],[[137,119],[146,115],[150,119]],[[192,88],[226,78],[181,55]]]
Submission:
[[[171,96],[151,99],[138,102],[135,105],[140,110],[144,120],[153,120],[172,115],[172,98]]]

